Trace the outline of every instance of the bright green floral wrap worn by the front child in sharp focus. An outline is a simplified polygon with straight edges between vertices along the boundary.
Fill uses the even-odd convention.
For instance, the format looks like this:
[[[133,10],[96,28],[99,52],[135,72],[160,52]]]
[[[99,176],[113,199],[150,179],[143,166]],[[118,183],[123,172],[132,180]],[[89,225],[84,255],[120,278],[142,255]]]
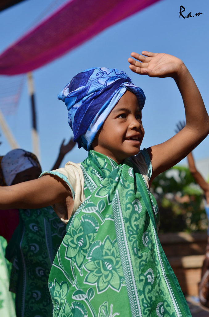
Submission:
[[[117,165],[95,151],[81,168],[87,198],[51,268],[53,316],[191,316],[159,243],[158,207],[144,177],[130,159]]]

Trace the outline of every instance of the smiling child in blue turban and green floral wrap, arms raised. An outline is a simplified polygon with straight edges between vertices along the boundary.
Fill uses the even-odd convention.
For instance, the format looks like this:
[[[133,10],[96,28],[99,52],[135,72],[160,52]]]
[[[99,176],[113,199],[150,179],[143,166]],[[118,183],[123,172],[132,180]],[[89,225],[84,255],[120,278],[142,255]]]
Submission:
[[[122,71],[90,68],[58,95],[88,158],[0,188],[0,208],[55,204],[59,217],[70,219],[49,277],[54,316],[191,316],[159,243],[158,207],[148,188],[207,136],[209,117],[181,60],[142,54],[128,59],[132,71],[176,81],[186,114],[179,133],[140,150],[142,89]]]

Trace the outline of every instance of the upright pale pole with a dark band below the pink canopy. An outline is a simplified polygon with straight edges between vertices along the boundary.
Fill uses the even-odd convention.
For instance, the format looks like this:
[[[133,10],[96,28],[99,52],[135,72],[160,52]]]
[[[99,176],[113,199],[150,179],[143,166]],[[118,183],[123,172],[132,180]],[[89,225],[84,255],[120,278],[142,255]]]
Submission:
[[[31,99],[33,153],[37,156],[37,158],[40,161],[39,134],[37,130],[33,76],[31,72],[27,73],[27,79],[28,79],[28,92]]]

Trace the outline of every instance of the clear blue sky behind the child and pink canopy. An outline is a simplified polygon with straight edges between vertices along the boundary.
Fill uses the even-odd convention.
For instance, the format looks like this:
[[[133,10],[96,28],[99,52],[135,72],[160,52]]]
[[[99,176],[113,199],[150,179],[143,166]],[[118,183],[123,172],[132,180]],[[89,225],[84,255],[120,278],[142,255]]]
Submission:
[[[27,0],[2,11],[0,53],[23,35],[52,2]],[[187,14],[203,14],[194,18],[179,18],[180,5],[185,7]],[[57,94],[75,74],[87,68],[124,70],[135,85],[142,87],[146,95],[142,113],[145,128],[142,148],[164,142],[174,135],[176,123],[185,117],[176,84],[171,78],[150,78],[132,73],[127,61],[132,51],[165,52],[182,59],[194,77],[209,111],[208,31],[208,1],[162,0],[106,29],[56,61],[35,70],[33,78],[43,170],[51,169],[62,139],[67,140],[72,136],[67,109],[62,101],[57,100]],[[6,120],[20,147],[32,151],[30,100],[26,83],[17,111],[6,116]],[[0,154],[4,155],[10,147],[3,135],[0,139],[3,142]],[[209,139],[206,138],[194,150],[195,159],[209,157],[208,145]],[[76,146],[66,155],[62,165],[68,160],[80,162],[86,156],[87,152]]]

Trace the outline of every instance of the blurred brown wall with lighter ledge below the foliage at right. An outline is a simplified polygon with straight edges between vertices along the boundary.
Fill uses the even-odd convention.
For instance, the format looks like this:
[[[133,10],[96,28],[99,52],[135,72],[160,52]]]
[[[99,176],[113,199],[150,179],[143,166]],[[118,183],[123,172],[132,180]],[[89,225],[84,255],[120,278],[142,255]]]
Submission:
[[[158,236],[182,292],[184,295],[198,296],[207,233],[177,232]]]

